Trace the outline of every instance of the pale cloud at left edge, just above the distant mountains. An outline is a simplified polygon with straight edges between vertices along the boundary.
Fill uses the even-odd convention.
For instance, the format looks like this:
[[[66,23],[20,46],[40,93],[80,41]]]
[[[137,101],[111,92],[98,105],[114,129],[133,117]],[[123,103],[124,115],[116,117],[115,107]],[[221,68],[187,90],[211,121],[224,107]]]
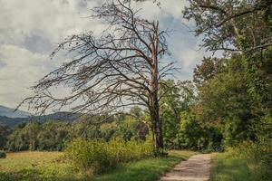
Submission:
[[[55,63],[48,56],[29,52],[15,45],[0,46],[0,102],[15,107],[23,97],[29,95],[26,88],[42,76]]]

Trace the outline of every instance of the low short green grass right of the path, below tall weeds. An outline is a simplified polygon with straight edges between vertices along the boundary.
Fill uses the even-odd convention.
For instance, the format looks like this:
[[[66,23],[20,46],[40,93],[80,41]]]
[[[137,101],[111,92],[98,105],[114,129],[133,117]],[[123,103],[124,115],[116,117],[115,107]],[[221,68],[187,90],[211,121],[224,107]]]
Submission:
[[[211,181],[272,181],[272,168],[269,169],[257,163],[248,164],[248,160],[232,152],[214,154]]]

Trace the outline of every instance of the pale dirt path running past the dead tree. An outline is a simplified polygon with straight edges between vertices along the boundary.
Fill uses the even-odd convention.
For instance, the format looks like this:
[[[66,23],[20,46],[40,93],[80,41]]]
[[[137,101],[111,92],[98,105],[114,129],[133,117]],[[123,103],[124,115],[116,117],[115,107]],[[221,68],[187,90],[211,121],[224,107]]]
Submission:
[[[210,155],[199,154],[182,161],[160,181],[208,181],[210,173]]]

